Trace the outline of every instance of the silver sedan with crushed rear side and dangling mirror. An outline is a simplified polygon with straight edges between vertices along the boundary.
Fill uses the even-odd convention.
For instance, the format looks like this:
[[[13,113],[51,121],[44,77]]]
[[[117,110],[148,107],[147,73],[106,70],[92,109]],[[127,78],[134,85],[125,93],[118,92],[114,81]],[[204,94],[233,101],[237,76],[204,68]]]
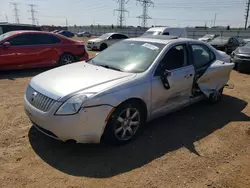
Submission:
[[[35,76],[24,107],[52,138],[124,144],[147,121],[203,99],[218,102],[233,66],[198,40],[126,39],[87,63]]]

